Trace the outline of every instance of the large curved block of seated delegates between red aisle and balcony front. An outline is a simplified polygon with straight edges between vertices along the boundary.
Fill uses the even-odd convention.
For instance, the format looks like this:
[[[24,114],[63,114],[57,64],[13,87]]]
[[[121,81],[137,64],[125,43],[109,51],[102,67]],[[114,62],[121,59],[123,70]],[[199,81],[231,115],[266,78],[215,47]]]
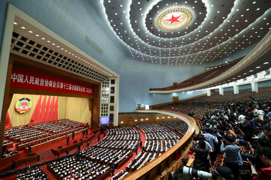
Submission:
[[[142,147],[142,152],[126,166],[126,170],[129,172],[136,171],[148,164],[181,139],[176,132],[158,123],[138,124],[135,126],[143,131],[146,141]]]

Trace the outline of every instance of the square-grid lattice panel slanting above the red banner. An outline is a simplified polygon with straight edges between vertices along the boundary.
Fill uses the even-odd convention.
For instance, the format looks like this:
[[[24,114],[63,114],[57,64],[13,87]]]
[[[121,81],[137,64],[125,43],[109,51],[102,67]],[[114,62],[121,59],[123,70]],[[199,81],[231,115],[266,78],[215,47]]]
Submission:
[[[61,53],[56,52],[54,49],[50,49],[29,39],[29,37],[22,36],[16,32],[12,33],[11,52],[27,56],[34,60],[46,62],[51,66],[61,67],[64,70],[71,71],[99,82],[108,79],[108,76],[86,67],[75,59],[68,58]]]

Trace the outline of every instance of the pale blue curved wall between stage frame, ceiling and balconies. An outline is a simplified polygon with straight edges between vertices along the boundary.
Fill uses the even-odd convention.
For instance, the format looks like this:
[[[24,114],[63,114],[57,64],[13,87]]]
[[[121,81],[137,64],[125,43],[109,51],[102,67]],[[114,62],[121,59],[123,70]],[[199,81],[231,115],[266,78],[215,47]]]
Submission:
[[[2,0],[0,1],[0,47],[8,3],[22,10],[120,75],[119,112],[132,112],[137,103],[160,104],[189,98],[204,92],[150,95],[149,88],[166,87],[205,70],[205,67],[242,57],[256,45],[220,61],[204,64],[160,65],[138,61],[129,56],[126,45],[114,34],[101,13],[100,3],[88,0]],[[99,7],[98,7],[99,6]],[[89,41],[91,40],[91,41]],[[101,48],[102,50],[97,50]],[[1,64],[0,64],[1,65]]]

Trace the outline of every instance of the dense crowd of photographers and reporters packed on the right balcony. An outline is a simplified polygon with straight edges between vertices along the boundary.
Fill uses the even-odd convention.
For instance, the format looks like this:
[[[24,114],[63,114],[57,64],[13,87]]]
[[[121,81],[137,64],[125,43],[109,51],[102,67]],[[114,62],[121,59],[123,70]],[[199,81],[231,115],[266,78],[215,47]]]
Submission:
[[[218,104],[216,104],[218,105]],[[223,166],[235,180],[271,179],[270,101],[219,104],[204,113],[204,131],[195,137],[193,168],[209,172],[217,157],[225,155]]]

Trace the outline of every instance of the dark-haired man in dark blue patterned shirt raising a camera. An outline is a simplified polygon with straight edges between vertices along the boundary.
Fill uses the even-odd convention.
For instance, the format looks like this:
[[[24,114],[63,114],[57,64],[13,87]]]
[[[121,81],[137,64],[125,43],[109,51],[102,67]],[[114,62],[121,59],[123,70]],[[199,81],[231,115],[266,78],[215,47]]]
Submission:
[[[234,179],[238,180],[238,153],[239,147],[234,143],[234,137],[226,136],[225,138],[226,146],[224,147],[224,143],[221,142],[220,152],[225,153],[225,166],[232,170],[234,174]]]

